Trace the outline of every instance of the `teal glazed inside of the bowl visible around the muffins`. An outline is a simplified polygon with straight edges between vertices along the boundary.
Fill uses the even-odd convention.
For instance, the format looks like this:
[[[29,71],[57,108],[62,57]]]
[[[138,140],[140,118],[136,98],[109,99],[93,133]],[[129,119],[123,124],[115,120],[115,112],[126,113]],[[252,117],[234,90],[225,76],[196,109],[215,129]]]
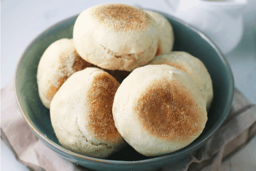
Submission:
[[[189,154],[200,148],[213,132],[224,121],[231,106],[234,82],[231,70],[218,49],[202,33],[181,21],[164,15],[172,24],[175,34],[173,51],[185,51],[198,57],[209,71],[214,90],[212,107],[208,112],[208,121],[203,133],[189,146],[168,154],[171,158],[178,154]],[[32,130],[39,132],[40,139],[51,142],[53,146],[61,147],[53,131],[50,120],[50,111],[40,101],[36,73],[40,57],[46,48],[54,41],[73,37],[73,27],[77,16],[64,20],[50,27],[39,35],[24,52],[16,71],[15,88],[17,101],[21,111]],[[68,152],[67,152],[68,153]],[[163,157],[163,156],[162,156]],[[158,158],[162,158],[158,157]],[[146,157],[136,152],[130,146],[115,153],[107,160],[141,161],[154,157]]]

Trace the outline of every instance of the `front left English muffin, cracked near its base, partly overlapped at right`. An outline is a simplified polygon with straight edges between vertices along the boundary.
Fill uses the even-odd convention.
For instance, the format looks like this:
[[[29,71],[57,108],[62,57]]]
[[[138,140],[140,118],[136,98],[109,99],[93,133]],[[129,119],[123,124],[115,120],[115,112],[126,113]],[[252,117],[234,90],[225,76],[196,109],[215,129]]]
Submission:
[[[60,144],[73,152],[106,158],[125,145],[112,105],[119,83],[102,69],[75,72],[53,97],[50,116]]]

